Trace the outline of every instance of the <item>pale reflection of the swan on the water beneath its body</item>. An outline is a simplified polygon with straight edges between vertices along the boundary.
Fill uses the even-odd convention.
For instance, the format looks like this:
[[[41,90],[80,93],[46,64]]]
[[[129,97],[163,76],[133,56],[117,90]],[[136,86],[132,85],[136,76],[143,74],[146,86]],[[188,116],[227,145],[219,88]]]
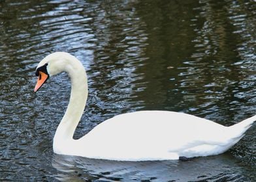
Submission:
[[[207,160],[207,162],[205,162]],[[120,162],[54,155],[52,166],[60,181],[105,179],[114,181],[219,181],[242,180],[242,170],[231,155],[191,161]],[[232,166],[232,170],[229,168]],[[78,170],[79,168],[79,170]],[[203,171],[203,172],[202,172]],[[172,179],[172,180],[170,180]]]

